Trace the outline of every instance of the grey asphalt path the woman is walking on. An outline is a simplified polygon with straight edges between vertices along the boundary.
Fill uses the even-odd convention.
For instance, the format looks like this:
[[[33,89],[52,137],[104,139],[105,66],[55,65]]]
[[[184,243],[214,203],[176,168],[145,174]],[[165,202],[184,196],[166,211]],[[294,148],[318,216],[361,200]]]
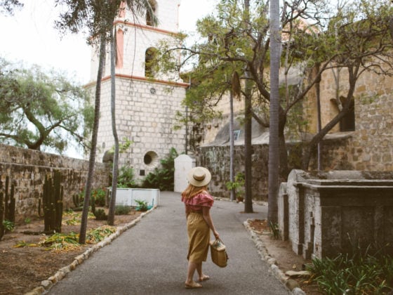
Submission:
[[[49,294],[289,294],[260,259],[242,224],[247,218],[265,218],[266,207],[242,214],[243,204],[215,201],[213,223],[227,245],[229,263],[219,268],[208,261],[204,273],[211,280],[201,289],[185,289],[187,232],[180,194],[161,192],[160,206],[112,244],[95,252]],[[213,235],[212,235],[213,239]],[[196,280],[195,276],[195,280]]]

